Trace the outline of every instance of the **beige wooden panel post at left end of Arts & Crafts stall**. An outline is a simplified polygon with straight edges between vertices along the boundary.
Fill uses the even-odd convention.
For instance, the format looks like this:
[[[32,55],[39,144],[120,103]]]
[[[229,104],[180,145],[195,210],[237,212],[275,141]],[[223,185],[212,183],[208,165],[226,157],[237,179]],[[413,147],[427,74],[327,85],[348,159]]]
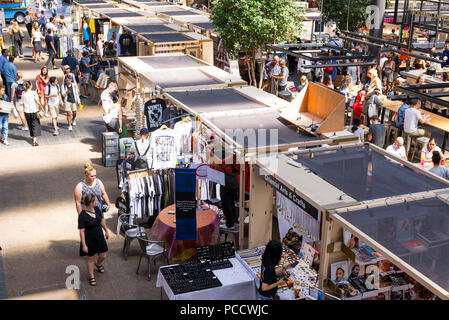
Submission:
[[[250,165],[249,248],[266,245],[273,228],[273,188],[259,177],[258,170]]]

